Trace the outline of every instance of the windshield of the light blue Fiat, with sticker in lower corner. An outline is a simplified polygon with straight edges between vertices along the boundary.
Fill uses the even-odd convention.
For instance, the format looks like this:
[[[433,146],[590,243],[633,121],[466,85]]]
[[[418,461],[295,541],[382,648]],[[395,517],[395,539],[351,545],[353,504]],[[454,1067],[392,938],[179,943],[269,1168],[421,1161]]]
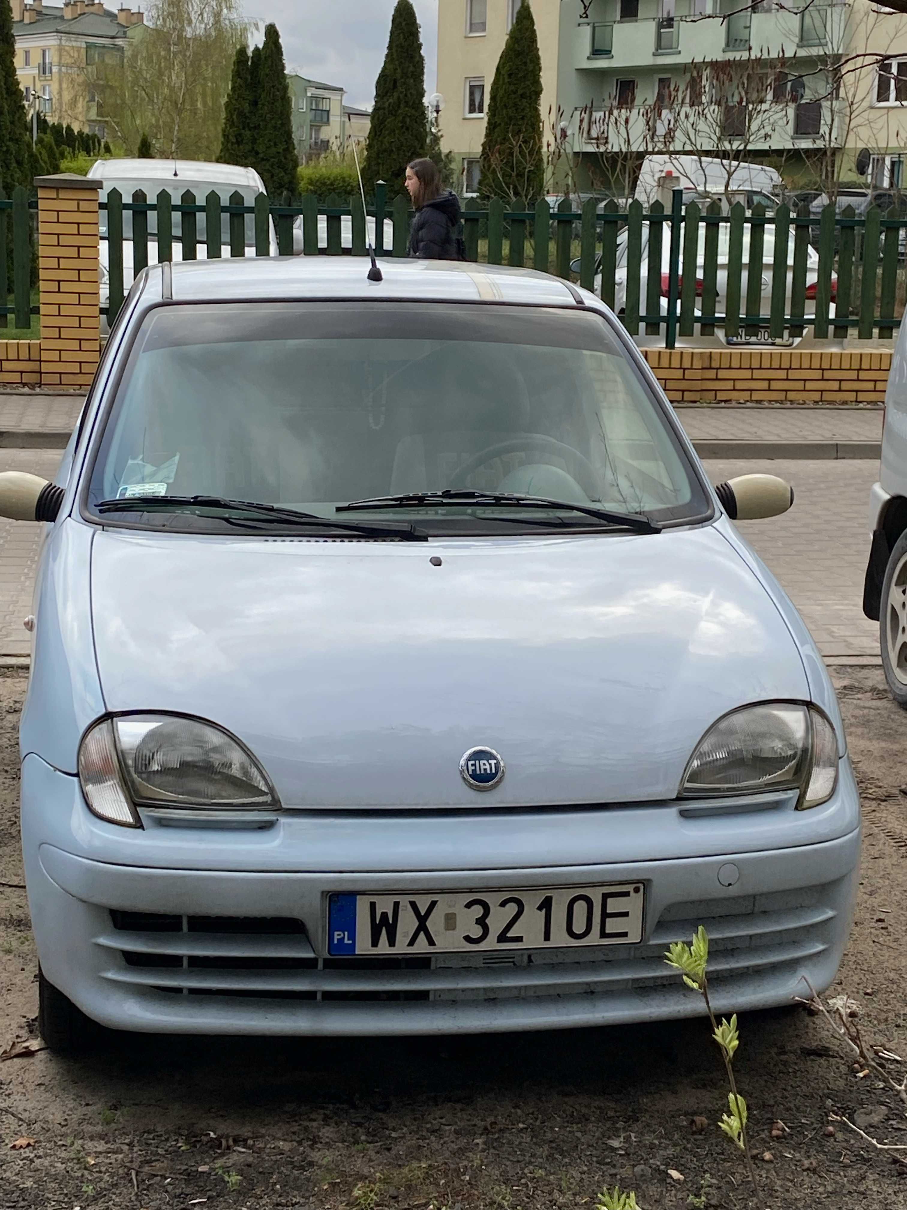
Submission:
[[[154,496],[160,507],[162,496],[200,495],[335,518],[352,501],[450,489],[657,520],[710,512],[602,317],[393,302],[150,312],[106,421],[88,505]],[[423,508],[470,532],[479,518],[508,512]],[[179,522],[144,515],[168,529]],[[393,506],[380,515],[394,517]],[[416,522],[411,509],[406,519]]]

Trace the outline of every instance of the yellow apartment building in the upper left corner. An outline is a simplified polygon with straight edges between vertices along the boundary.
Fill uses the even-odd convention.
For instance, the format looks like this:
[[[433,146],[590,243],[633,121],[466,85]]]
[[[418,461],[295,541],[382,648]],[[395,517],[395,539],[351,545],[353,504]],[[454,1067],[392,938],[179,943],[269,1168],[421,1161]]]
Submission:
[[[122,60],[144,13],[108,8],[99,0],[12,0],[12,19],[16,71],[29,111],[36,108],[50,122],[108,138],[93,73],[106,60]]]

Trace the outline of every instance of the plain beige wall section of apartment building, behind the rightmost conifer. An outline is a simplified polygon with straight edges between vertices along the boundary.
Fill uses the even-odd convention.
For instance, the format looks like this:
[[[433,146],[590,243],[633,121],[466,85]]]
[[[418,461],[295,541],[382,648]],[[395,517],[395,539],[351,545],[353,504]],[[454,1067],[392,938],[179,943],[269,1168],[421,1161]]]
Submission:
[[[460,189],[479,186],[479,155],[495,69],[521,4],[530,0],[438,0],[438,92],[445,151],[457,157]],[[545,139],[556,121],[560,0],[531,0],[542,54],[542,117]],[[550,117],[549,117],[550,114]]]

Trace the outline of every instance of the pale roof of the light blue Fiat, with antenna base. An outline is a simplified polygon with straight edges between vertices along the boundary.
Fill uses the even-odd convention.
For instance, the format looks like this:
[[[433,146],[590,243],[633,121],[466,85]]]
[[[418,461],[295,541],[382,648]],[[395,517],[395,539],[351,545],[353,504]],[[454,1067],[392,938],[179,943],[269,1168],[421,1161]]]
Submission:
[[[578,292],[531,269],[452,260],[381,259],[382,282],[368,280],[364,257],[249,257],[174,264],[174,302],[305,301],[306,299],[579,304]],[[158,275],[161,276],[161,275]],[[164,278],[161,276],[161,284]]]

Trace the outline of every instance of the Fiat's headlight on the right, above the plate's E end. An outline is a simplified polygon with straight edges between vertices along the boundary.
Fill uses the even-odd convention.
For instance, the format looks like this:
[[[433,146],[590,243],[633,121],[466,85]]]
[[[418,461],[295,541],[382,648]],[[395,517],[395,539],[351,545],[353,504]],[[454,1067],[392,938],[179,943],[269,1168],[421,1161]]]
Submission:
[[[799,790],[797,809],[805,811],[827,802],[837,783],[838,743],[825,715],[767,702],[718,719],[687,766],[681,795]]]

